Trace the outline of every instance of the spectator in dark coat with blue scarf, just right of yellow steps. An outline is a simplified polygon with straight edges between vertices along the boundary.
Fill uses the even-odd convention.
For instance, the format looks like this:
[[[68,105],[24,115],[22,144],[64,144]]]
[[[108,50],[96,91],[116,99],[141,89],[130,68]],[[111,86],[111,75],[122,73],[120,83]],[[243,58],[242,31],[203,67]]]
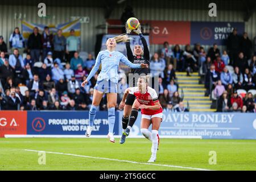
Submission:
[[[212,80],[212,85],[210,85],[210,80]],[[205,88],[207,89],[207,93],[205,94],[205,96],[209,96],[210,92],[212,92],[212,90],[210,90],[210,87],[214,89],[217,85],[218,80],[220,80],[220,73],[215,71],[215,65],[212,64],[210,66],[210,70],[205,76]]]

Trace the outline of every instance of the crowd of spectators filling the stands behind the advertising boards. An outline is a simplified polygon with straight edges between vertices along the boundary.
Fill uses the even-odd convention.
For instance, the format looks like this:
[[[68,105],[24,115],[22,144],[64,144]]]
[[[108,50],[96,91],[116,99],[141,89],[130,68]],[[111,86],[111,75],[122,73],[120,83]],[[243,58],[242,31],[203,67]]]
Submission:
[[[150,60],[150,72],[159,75],[159,101],[168,111],[183,112],[188,109],[179,96],[175,71],[200,72],[205,77],[206,95],[214,94],[217,111],[256,112],[255,96],[243,95],[238,89],[249,91],[256,86],[256,54],[251,52],[252,43],[246,32],[243,36],[234,29],[227,40],[227,50],[222,53],[214,44],[208,52],[199,43],[193,49],[186,45],[171,48],[168,42]],[[16,27],[10,35],[9,55],[7,45],[0,36],[0,110],[89,110],[92,104],[93,87],[98,74],[82,88],[95,64],[92,54],[87,59],[79,56],[80,40],[75,31],[66,39],[62,31],[56,35],[45,27],[42,34],[37,27],[25,44]],[[23,59],[23,52],[26,58]],[[230,68],[234,69],[230,73]],[[123,73],[119,69],[119,73]],[[121,75],[121,74],[120,74]],[[24,96],[20,92],[26,86]],[[120,76],[118,101],[128,87]],[[102,99],[100,110],[106,110],[106,98]],[[117,105],[118,109],[118,105]]]

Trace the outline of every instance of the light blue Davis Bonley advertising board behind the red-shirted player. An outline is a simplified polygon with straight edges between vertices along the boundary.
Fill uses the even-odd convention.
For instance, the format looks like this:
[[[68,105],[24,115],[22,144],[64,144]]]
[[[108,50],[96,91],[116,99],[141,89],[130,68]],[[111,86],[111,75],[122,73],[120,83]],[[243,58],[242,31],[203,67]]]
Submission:
[[[141,119],[141,115],[138,119]],[[131,135],[141,135],[139,120],[135,123]],[[208,139],[256,139],[256,114],[170,113],[164,111],[159,135],[198,136]]]

